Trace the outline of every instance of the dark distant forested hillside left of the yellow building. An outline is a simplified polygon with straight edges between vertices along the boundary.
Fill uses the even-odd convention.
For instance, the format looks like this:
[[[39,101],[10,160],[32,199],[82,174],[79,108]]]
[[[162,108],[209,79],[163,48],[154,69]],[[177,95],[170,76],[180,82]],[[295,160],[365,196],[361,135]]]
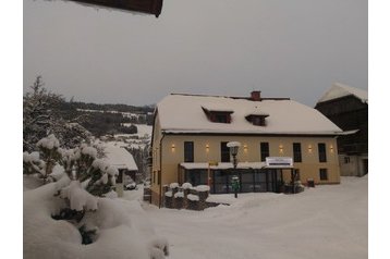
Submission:
[[[153,124],[153,106],[134,107],[127,104],[97,104],[80,101],[63,101],[60,103],[59,112],[68,121],[76,121],[94,136],[113,135],[113,134],[135,134],[135,125],[122,126],[122,123],[133,124]],[[102,112],[87,112],[82,110],[96,110]],[[129,112],[134,116],[124,116],[122,113],[112,113],[111,111]]]

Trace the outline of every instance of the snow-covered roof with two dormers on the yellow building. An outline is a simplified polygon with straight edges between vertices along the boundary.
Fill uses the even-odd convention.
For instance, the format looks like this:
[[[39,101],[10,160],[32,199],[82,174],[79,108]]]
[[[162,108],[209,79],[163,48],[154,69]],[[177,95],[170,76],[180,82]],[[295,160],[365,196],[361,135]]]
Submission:
[[[209,121],[203,107],[228,108],[233,111],[231,123]],[[342,132],[319,111],[289,99],[252,101],[230,97],[170,95],[157,104],[157,109],[161,131],[166,133],[333,135]],[[266,126],[253,125],[245,119],[254,111],[269,114]]]

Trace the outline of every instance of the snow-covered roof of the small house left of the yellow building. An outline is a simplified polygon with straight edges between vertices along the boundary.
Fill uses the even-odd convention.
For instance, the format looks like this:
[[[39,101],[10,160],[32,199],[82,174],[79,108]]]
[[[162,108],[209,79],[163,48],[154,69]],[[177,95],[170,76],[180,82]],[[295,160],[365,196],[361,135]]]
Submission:
[[[105,143],[106,160],[117,169],[126,169],[129,171],[137,171],[138,168],[133,156],[123,147],[112,143]]]

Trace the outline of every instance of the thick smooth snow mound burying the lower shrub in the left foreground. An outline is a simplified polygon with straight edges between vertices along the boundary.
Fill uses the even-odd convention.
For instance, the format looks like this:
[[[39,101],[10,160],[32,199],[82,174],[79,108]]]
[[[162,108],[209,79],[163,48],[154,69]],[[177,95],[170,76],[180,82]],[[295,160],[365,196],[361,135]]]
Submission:
[[[66,174],[63,177],[68,177]],[[162,259],[166,238],[156,235],[139,202],[96,197],[98,210],[80,222],[53,220],[66,203],[57,183],[23,193],[23,254],[28,259]],[[93,234],[95,233],[95,234]],[[88,245],[83,245],[89,243]]]

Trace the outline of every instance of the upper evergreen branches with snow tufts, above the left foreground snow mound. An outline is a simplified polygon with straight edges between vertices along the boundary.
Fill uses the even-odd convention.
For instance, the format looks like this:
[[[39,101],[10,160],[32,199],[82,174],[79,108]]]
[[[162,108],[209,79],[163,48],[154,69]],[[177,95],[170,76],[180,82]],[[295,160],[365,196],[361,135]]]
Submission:
[[[84,188],[92,195],[103,196],[113,189],[119,172],[97,158],[95,147],[82,144],[74,149],[63,149],[52,134],[40,139],[36,146],[39,152],[23,153],[24,174],[38,174],[44,183],[56,182],[61,178],[61,173],[54,176],[52,171],[56,164],[60,164],[70,180],[84,183]]]

